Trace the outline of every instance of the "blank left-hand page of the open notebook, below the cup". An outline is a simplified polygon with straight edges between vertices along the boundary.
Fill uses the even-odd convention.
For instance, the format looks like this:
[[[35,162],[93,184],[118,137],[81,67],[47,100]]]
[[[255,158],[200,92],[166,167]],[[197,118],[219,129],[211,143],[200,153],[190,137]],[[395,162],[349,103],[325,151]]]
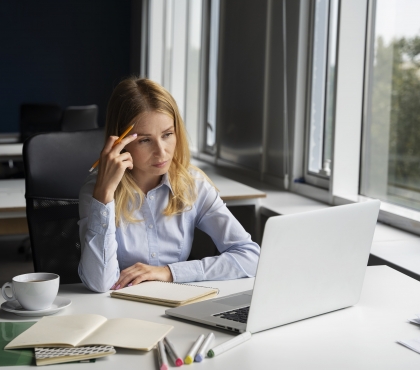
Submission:
[[[104,322],[105,317],[92,314],[45,316],[6,348],[77,346]]]

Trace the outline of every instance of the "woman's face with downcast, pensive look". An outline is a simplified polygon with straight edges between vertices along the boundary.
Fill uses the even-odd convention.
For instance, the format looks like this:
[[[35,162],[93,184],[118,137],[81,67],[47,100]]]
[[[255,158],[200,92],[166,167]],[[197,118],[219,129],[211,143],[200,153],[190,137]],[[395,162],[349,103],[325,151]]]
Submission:
[[[156,182],[156,186],[172,163],[176,146],[174,120],[164,113],[144,113],[130,134],[137,134],[137,139],[125,149],[133,158],[132,174],[145,191],[142,185]]]

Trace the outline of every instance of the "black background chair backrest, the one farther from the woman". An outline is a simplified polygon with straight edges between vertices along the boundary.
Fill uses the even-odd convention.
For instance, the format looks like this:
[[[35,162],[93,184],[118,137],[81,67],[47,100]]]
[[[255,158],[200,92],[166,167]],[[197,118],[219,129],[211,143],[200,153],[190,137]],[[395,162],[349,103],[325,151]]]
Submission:
[[[41,132],[60,131],[62,115],[63,110],[57,104],[21,104],[21,141]]]

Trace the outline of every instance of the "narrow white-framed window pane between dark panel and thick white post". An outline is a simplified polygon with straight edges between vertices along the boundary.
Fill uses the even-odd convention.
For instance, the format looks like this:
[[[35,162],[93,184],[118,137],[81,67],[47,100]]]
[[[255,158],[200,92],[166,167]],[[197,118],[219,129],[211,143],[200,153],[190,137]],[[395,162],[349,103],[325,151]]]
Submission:
[[[317,0],[313,9],[305,180],[324,187],[331,173],[338,6],[338,0]]]

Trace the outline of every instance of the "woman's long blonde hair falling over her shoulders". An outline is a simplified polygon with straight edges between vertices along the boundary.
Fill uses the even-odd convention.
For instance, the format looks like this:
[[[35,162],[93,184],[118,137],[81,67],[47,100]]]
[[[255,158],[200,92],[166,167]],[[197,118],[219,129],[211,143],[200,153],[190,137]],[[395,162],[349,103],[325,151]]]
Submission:
[[[163,214],[172,216],[190,210],[197,199],[197,190],[189,170],[194,168],[202,173],[204,178],[209,179],[190,163],[190,150],[184,122],[175,99],[166,89],[146,78],[130,77],[121,81],[108,102],[106,137],[121,136],[139,115],[147,112],[164,113],[174,120],[176,146],[168,171],[173,193],[169,192],[168,205]],[[135,196],[135,192],[140,195],[140,200]],[[133,216],[133,213],[136,209],[140,209],[144,197],[145,194],[137,186],[131,171],[125,171],[115,192],[117,226],[120,226],[122,220],[140,221]]]

